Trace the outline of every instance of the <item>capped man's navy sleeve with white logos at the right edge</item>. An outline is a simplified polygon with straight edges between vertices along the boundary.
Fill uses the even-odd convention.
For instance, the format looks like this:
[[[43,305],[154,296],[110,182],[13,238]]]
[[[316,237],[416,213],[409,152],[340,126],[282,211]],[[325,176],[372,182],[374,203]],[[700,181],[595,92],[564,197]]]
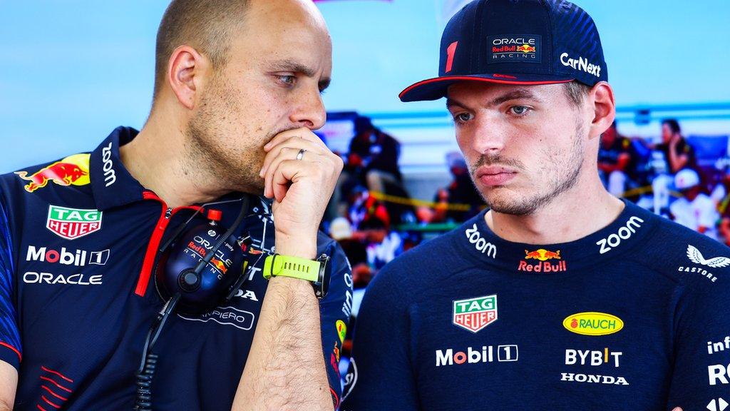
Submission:
[[[722,250],[723,254],[708,256],[712,257],[708,263],[715,260],[715,268],[702,267],[717,281],[686,290],[678,303],[667,410],[724,410],[730,403],[730,267],[722,267],[730,265],[726,257],[730,249]]]

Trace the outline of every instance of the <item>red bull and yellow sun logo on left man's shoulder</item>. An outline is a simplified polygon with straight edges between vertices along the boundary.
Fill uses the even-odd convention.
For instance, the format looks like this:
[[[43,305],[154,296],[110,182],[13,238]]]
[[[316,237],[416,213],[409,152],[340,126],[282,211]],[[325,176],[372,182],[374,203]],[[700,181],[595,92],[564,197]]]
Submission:
[[[43,167],[30,176],[28,176],[27,171],[16,171],[15,174],[18,174],[18,177],[23,178],[23,180],[30,181],[25,186],[27,192],[41,189],[47,186],[49,181],[53,181],[59,186],[85,186],[91,182],[89,179],[89,157],[91,157],[90,154],[74,154],[62,159],[60,162]]]

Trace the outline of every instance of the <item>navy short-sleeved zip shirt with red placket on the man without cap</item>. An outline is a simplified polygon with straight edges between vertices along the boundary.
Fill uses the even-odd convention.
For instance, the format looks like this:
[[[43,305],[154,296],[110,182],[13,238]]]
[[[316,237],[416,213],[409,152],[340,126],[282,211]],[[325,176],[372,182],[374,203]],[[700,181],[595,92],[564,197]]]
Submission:
[[[0,176],[0,360],[18,369],[15,410],[130,410],[134,404],[134,372],[163,304],[150,275],[156,250],[194,212],[168,208],[124,168],[119,146],[135,135],[119,127],[91,154]],[[227,228],[240,204],[210,208],[223,212]],[[248,279],[230,304],[168,320],[154,349],[160,355],[155,410],[231,408],[266,294],[263,257],[274,252],[270,203],[251,204],[252,215],[236,233],[250,233],[261,258],[249,262]],[[337,404],[352,277],[342,250],[322,233],[318,252],[332,257],[320,320]]]

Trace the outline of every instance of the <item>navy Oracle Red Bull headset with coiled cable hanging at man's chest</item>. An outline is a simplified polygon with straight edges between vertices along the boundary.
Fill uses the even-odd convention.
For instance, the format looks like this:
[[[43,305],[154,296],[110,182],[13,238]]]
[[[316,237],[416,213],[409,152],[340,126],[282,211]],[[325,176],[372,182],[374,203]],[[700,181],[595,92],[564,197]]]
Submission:
[[[246,280],[248,260],[258,253],[250,249],[250,235],[237,237],[234,230],[245,218],[250,199],[243,195],[232,201],[242,204],[236,221],[228,230],[220,226],[222,213],[211,208],[207,211],[207,222],[188,228],[205,207],[231,200],[204,204],[158,250],[155,287],[165,304],[147,332],[142,362],[135,373],[135,411],[152,411],[152,379],[159,358],[152,349],[170,314],[175,311],[193,315],[210,312],[230,301]],[[262,256],[259,254],[258,258]]]

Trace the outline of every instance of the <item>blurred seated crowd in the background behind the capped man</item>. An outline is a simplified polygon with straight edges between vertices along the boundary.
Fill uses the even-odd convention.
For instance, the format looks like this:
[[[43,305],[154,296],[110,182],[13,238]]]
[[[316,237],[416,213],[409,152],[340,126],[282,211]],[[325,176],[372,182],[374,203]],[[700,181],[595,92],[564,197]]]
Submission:
[[[613,124],[602,135],[598,168],[607,190],[730,245],[728,137],[685,137],[668,118],[651,142]],[[430,199],[411,198],[399,169],[400,143],[370,118],[354,119],[345,169],[323,229],[339,241],[353,268],[353,322],[377,271],[424,239],[451,230],[486,208],[458,152],[445,154],[451,181]],[[351,333],[353,327],[348,329]],[[347,339],[350,339],[350,335]],[[343,346],[342,369],[349,345]],[[343,373],[344,374],[344,373]]]

